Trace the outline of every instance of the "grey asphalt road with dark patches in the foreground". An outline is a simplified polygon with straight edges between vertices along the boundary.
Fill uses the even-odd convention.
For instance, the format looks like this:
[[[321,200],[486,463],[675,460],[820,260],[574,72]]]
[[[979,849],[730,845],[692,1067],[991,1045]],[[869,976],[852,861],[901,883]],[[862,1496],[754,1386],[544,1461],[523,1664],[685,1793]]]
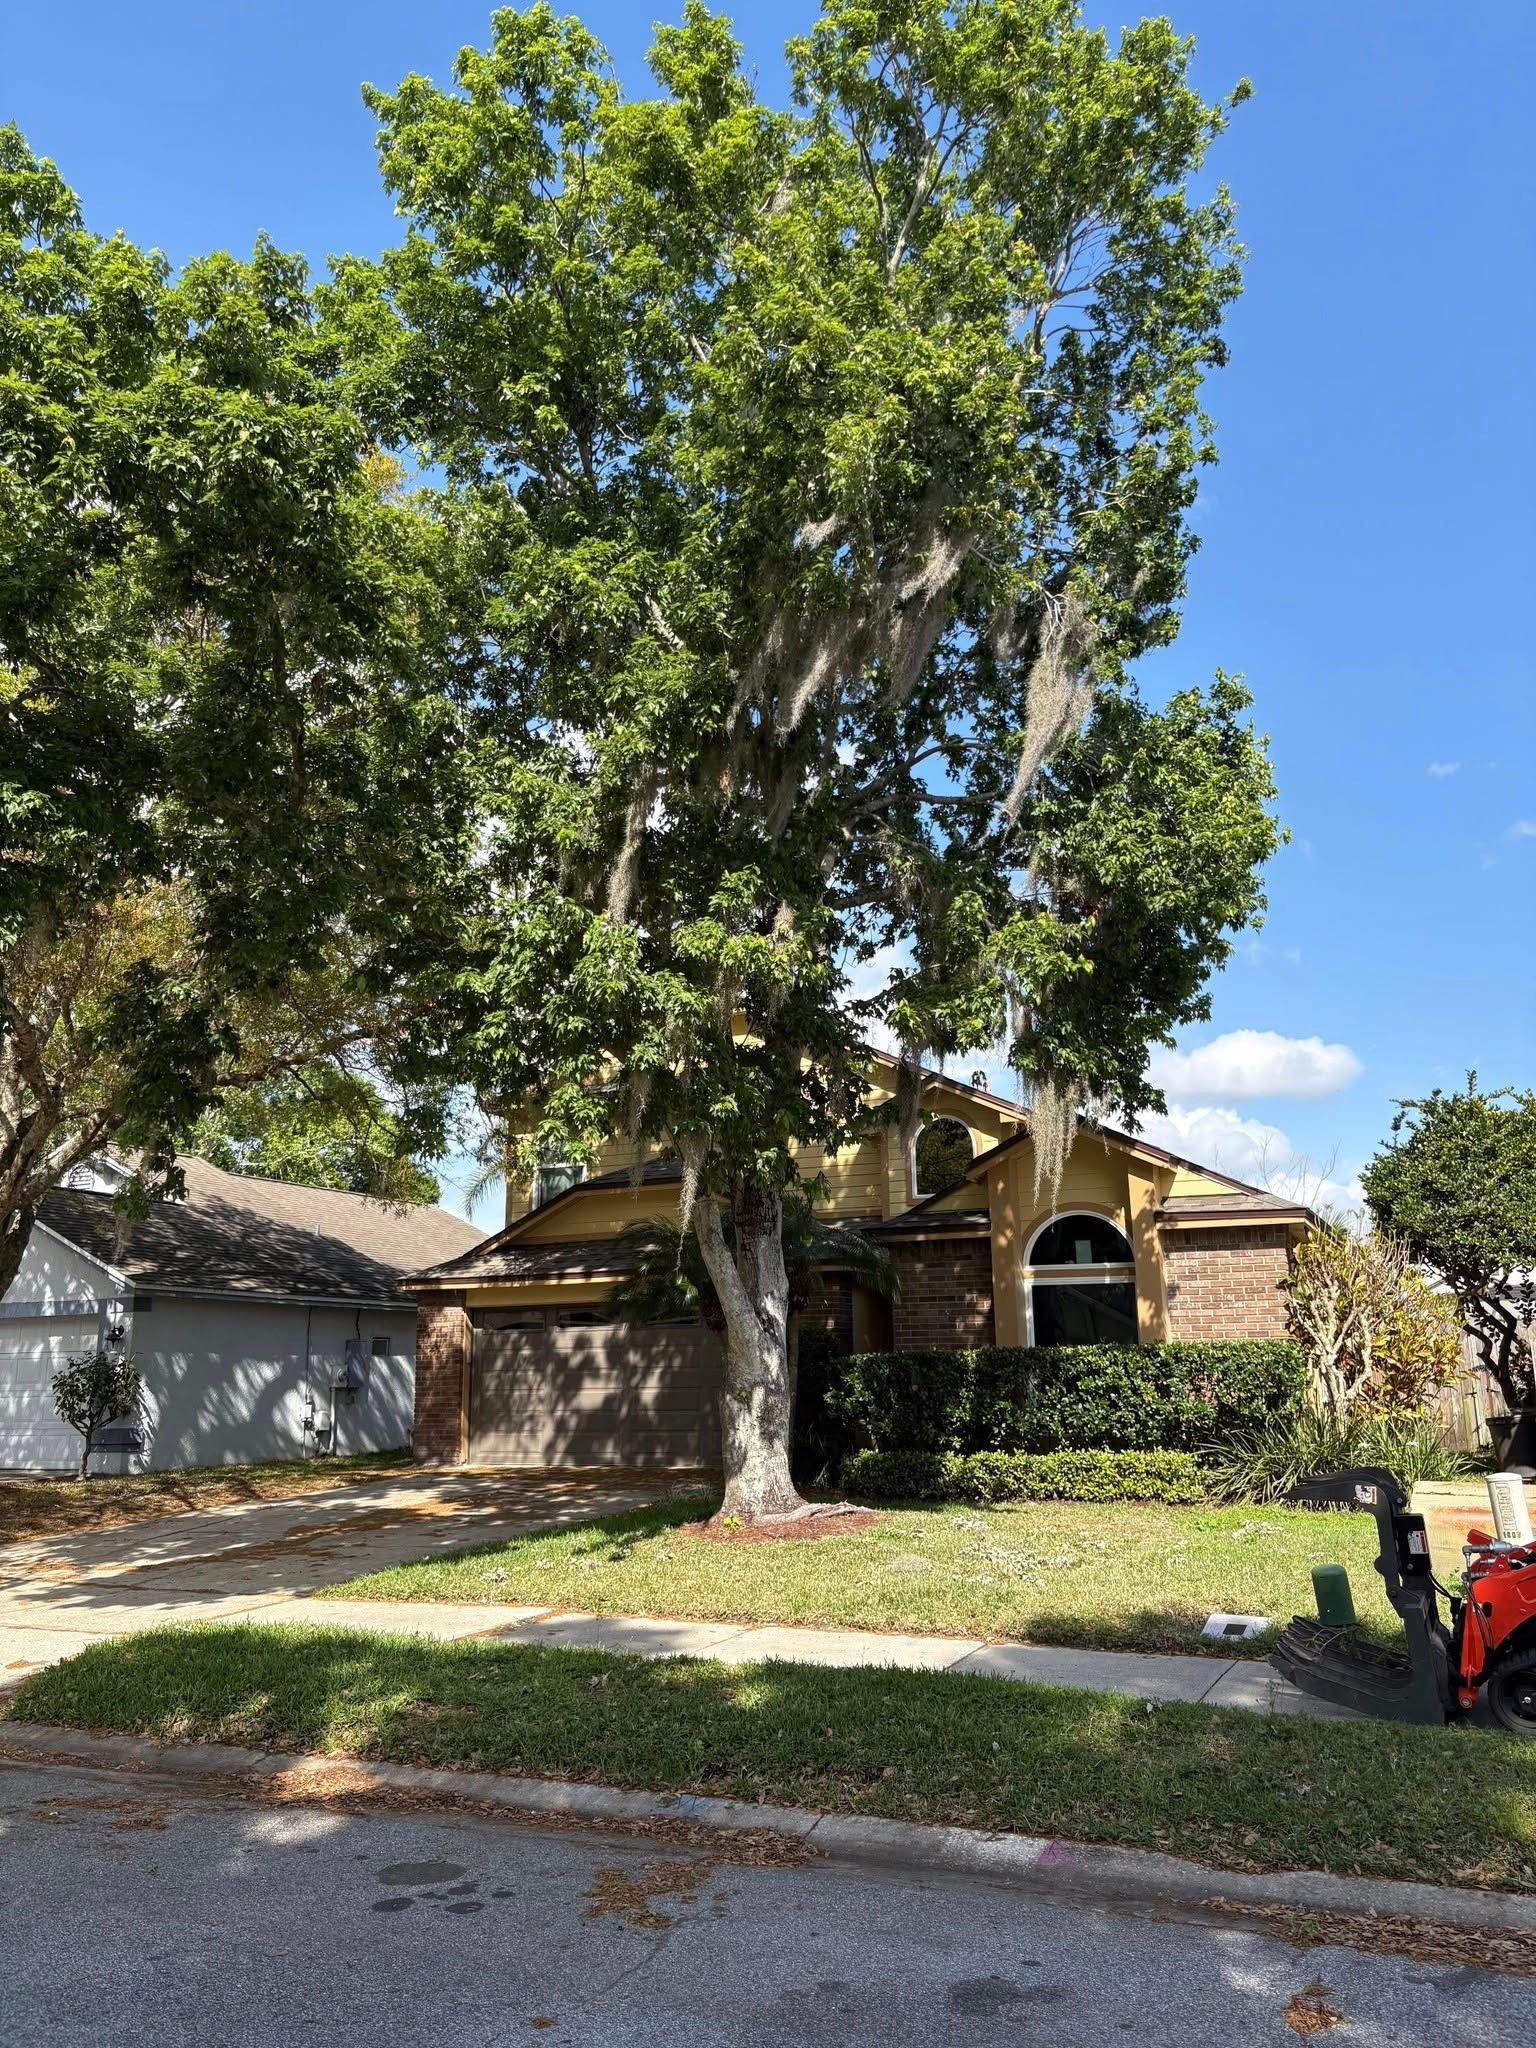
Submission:
[[[979,1884],[0,1765],[6,2048],[1528,2048],[1532,1982]]]

